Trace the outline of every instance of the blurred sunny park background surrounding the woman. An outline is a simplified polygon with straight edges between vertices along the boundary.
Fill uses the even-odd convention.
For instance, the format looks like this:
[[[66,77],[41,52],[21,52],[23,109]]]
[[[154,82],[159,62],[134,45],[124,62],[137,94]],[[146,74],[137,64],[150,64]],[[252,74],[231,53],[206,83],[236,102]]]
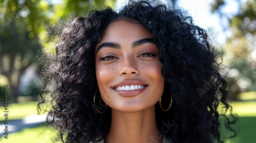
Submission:
[[[256,142],[256,0],[165,0],[194,17],[223,52],[228,100],[239,115],[238,136],[225,142]],[[51,142],[45,114],[37,115],[41,55],[51,52],[60,23],[86,17],[106,6],[118,10],[125,0],[0,0],[0,142]],[[46,50],[42,51],[42,47]],[[8,108],[4,91],[8,86]],[[223,132],[223,134],[229,134]]]

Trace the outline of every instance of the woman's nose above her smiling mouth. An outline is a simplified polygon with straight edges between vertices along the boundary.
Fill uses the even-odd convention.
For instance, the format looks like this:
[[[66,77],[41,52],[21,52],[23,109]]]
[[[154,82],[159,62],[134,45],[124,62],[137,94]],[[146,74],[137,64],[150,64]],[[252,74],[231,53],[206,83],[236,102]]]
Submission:
[[[135,59],[131,57],[127,56],[126,58],[122,59],[120,66],[120,76],[139,74],[138,63]]]

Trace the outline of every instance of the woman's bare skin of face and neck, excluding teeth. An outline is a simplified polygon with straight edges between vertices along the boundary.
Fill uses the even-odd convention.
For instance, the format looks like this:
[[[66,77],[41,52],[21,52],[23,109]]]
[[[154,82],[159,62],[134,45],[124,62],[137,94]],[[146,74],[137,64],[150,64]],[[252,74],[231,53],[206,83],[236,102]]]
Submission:
[[[136,21],[134,21],[136,22]],[[162,142],[157,137],[155,104],[162,96],[164,79],[158,47],[152,34],[138,22],[110,23],[95,49],[96,78],[103,101],[112,108],[105,142]],[[135,44],[135,41],[139,44]],[[116,87],[145,87],[118,91]]]

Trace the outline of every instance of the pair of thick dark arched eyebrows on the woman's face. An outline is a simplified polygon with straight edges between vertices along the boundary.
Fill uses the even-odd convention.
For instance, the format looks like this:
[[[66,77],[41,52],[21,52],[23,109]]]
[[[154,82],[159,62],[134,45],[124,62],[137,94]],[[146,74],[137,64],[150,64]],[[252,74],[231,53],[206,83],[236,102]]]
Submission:
[[[144,39],[140,39],[140,40],[137,40],[137,41],[134,41],[132,43],[132,49],[134,49],[135,47],[139,46],[139,45],[142,45],[144,43],[153,43],[155,44],[155,42],[153,41],[152,38],[144,38]],[[102,44],[99,45],[96,53],[101,50],[101,49],[104,49],[105,47],[112,47],[114,49],[121,49],[121,45],[119,43],[114,43],[114,42],[104,42]]]

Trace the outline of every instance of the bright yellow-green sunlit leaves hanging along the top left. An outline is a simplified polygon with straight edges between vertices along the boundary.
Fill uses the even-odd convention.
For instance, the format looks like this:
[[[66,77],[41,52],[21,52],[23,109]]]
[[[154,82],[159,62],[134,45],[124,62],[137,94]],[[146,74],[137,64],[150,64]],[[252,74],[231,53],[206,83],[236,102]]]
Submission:
[[[25,28],[29,32],[30,38],[39,37],[42,45],[47,44],[53,26],[56,26],[70,17],[83,16],[86,17],[90,10],[101,9],[106,7],[114,7],[116,0],[62,0],[57,4],[53,4],[50,0],[20,0],[7,1],[0,0],[0,22],[10,23],[17,19],[26,22]],[[1,17],[2,16],[2,17]]]

